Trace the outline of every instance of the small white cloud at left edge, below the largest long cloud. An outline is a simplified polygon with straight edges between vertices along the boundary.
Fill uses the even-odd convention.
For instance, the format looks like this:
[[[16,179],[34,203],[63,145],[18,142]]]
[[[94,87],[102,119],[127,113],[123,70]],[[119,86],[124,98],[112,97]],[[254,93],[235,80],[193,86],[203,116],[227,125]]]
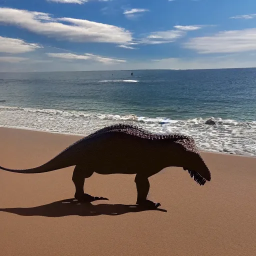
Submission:
[[[23,53],[41,48],[36,43],[27,43],[21,39],[0,36],[0,52]]]

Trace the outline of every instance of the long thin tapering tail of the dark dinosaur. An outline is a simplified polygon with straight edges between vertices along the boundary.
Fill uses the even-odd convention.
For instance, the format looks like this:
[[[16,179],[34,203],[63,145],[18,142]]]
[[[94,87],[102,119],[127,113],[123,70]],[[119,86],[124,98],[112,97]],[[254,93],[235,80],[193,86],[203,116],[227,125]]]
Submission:
[[[16,173],[42,173],[42,172],[48,172],[53,171],[57,169],[62,169],[65,167],[76,165],[75,157],[72,153],[70,153],[70,150],[63,150],[58,155],[53,157],[48,162],[29,169],[9,169],[0,166],[0,169],[10,171],[10,172],[16,172]]]

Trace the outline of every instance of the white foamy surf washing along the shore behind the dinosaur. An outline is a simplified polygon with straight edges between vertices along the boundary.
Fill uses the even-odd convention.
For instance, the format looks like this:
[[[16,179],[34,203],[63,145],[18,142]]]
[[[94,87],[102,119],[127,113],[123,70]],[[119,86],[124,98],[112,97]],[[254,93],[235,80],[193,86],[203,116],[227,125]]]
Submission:
[[[0,126],[19,127],[67,134],[88,135],[114,123],[142,126],[153,133],[182,133],[192,136],[201,150],[233,154],[256,155],[256,121],[193,118],[173,120],[134,114],[106,114],[57,109],[36,109],[0,106]]]

